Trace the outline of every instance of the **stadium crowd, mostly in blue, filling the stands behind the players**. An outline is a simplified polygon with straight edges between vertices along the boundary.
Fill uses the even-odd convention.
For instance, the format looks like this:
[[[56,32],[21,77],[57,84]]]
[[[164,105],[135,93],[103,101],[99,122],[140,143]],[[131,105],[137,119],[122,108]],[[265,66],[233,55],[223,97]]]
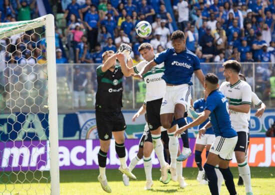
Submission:
[[[256,83],[260,91],[264,91],[262,99],[267,99],[270,94],[275,97],[275,89],[272,89],[275,84],[270,84],[270,77],[275,76],[272,65],[275,62],[275,0],[171,0],[171,12],[166,10],[164,0],[50,2],[56,19],[57,63],[101,63],[104,51],[116,51],[121,43],[127,43],[132,47],[131,57],[137,64],[142,59],[137,50],[142,42],[151,43],[155,52],[171,46],[170,34],[175,30],[172,23],[176,22],[176,26],[185,33],[187,48],[199,57],[200,62],[204,62],[204,73],[212,71],[219,75],[218,66],[208,65],[207,62],[217,62],[219,65],[227,59],[267,62],[256,66]],[[38,16],[36,0],[0,0],[0,4],[3,5],[0,6],[2,22]],[[137,36],[135,32],[135,25],[140,20],[151,23],[152,33],[146,38]],[[45,49],[43,36],[41,40],[38,38],[35,34],[31,38],[25,35],[13,37],[10,42],[20,43],[19,49],[24,57],[29,55],[29,50],[34,46],[29,42],[30,39],[39,42],[41,51]],[[0,52],[7,60],[10,58],[20,63],[21,57],[16,55],[20,53],[12,53],[14,46],[8,47],[11,55],[5,52],[8,41],[1,39],[0,44],[3,45]],[[35,55],[37,53],[31,53],[30,58],[37,58]],[[87,83],[91,82],[95,76],[94,68],[80,67],[85,68],[83,71],[92,72],[91,75],[87,74]],[[250,81],[252,85],[249,80],[251,65],[246,65],[244,70],[248,83]],[[64,71],[60,68],[57,73],[64,74]],[[96,84],[93,85],[94,90],[95,87]]]

